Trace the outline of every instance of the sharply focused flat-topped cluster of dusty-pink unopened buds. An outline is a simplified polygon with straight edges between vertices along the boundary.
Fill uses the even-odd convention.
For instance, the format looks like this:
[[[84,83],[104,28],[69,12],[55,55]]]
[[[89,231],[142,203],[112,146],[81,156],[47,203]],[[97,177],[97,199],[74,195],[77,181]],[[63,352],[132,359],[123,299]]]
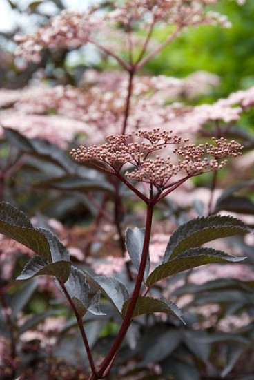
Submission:
[[[227,162],[223,158],[242,155],[240,150],[243,149],[235,140],[228,142],[224,138],[213,139],[215,144],[188,144],[188,139],[182,140],[173,131],[161,131],[159,128],[128,135],[113,135],[107,137],[107,140],[101,146],[79,146],[78,149],[72,149],[70,155],[77,162],[91,162],[117,176],[121,175],[121,169],[128,164],[125,178],[150,184],[152,193],[155,189],[159,193],[173,190],[175,185],[190,177],[222,169]],[[173,145],[170,152],[169,145]],[[162,154],[158,155],[158,151]],[[177,176],[175,182],[170,182],[180,172],[184,176]],[[166,191],[164,196],[169,192]]]

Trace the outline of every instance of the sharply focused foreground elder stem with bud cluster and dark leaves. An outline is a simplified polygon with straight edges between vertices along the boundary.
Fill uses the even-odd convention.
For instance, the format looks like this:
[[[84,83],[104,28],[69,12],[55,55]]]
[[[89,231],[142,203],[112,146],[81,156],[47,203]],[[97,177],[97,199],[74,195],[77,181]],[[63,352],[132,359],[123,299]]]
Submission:
[[[173,149],[168,152],[171,146]],[[46,229],[32,227],[21,211],[5,202],[1,203],[1,233],[37,253],[26,264],[18,279],[25,280],[42,274],[55,277],[57,287],[66,296],[77,319],[90,363],[91,380],[102,379],[109,374],[135,316],[162,312],[176,316],[184,323],[177,305],[169,299],[150,296],[153,286],[159,281],[199,265],[242,260],[224,251],[201,247],[211,240],[244,234],[249,230],[240,220],[227,216],[196,218],[181,225],[170,236],[162,263],[152,271],[149,258],[153,212],[157,202],[188,178],[222,169],[226,164],[225,158],[241,155],[240,149],[241,144],[234,140],[228,142],[221,138],[215,140],[215,144],[195,145],[188,144],[187,140],[182,142],[181,137],[173,135],[172,131],[154,129],[113,135],[108,137],[108,143],[101,146],[80,146],[72,150],[70,154],[79,163],[90,162],[97,169],[115,175],[146,204],[145,229],[135,227],[126,231],[126,248],[137,269],[132,292],[117,278],[92,276],[77,269],[70,262],[68,250],[57,236]],[[92,298],[90,287],[97,289]],[[112,347],[98,364],[92,357],[83,319],[86,312],[97,316],[104,314],[99,307],[101,294],[113,304],[122,322]]]

